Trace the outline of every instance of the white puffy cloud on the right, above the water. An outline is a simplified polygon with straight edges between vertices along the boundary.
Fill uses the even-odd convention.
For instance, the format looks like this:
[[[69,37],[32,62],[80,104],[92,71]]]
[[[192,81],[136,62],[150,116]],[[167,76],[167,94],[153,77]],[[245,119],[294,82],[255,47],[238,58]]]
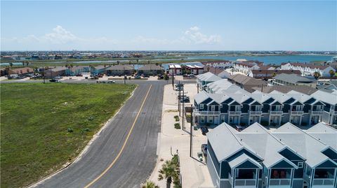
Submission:
[[[185,36],[190,41],[194,42],[195,44],[214,44],[214,43],[221,43],[222,38],[219,35],[210,35],[207,36],[206,34],[202,34],[199,31],[199,27],[194,26],[190,27],[187,31],[185,31]]]

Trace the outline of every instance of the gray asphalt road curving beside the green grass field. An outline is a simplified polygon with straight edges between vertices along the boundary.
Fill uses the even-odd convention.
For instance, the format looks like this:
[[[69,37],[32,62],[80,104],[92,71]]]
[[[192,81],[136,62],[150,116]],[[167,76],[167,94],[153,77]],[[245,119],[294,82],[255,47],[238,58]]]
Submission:
[[[88,147],[81,159],[37,187],[86,187],[99,176],[101,177],[90,187],[140,187],[145,182],[157,161],[157,137],[161,127],[164,85],[168,82],[128,82],[138,84],[133,96]],[[140,110],[142,103],[143,108]],[[124,150],[113,166],[108,168],[117,158],[127,137]]]

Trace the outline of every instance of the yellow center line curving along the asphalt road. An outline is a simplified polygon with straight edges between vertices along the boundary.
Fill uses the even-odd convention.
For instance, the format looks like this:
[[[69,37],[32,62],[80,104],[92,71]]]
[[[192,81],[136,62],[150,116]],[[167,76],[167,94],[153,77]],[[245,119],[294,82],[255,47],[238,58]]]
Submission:
[[[117,154],[117,157],[114,158],[114,161],[112,161],[112,163],[111,163],[107,168],[105,168],[105,170],[103,171],[103,173],[101,173],[100,175],[98,175],[98,177],[95,178],[95,180],[91,181],[91,182],[90,182],[88,185],[86,185],[86,187],[84,187],[84,188],[90,187],[90,186],[93,185],[95,182],[97,182],[100,178],[102,178],[103,175],[105,175],[105,173],[107,173],[107,171],[109,171],[109,169],[110,169],[112,166],[114,166],[114,164],[116,163],[117,159],[121,156],[121,152],[123,152],[126,143],[128,143],[128,138],[130,137],[130,135],[131,135],[131,133],[132,133],[133,127],[135,126],[136,121],[137,121],[137,119],[138,119],[138,116],[140,115],[140,111],[142,111],[142,109],[143,109],[144,103],[145,103],[145,101],[146,101],[146,99],[147,99],[147,96],[148,96],[149,93],[150,93],[151,87],[152,87],[152,85],[150,85],[150,88],[149,88],[149,90],[147,91],[147,94],[146,94],[145,99],[144,99],[144,101],[143,101],[143,103],[142,103],[142,106],[140,106],[140,109],[139,109],[139,111],[138,111],[138,113],[137,113],[137,115],[136,115],[136,119],[135,119],[135,121],[133,122],[130,131],[128,131],[128,136],[126,136],[126,139],[125,139],[125,141],[124,141],[124,143],[123,143],[123,146],[121,146],[121,150],[120,150],[119,153]]]

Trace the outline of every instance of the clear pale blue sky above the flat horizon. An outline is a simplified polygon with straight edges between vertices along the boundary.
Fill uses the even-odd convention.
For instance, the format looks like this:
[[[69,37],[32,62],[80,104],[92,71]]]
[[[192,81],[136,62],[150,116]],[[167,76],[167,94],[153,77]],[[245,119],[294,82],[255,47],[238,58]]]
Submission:
[[[1,50],[337,50],[337,1],[1,1]]]

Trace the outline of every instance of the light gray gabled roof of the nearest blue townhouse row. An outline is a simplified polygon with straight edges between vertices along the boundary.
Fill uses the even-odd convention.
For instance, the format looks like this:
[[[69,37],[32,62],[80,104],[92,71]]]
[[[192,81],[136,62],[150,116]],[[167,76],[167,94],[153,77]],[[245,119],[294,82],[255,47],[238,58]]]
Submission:
[[[317,124],[305,132],[291,123],[286,123],[274,131],[269,131],[255,123],[241,132],[235,131],[230,125],[223,123],[207,134],[209,143],[219,162],[245,148],[251,154],[263,160],[263,164],[267,168],[274,166],[279,161],[286,161],[294,168],[298,168],[296,164],[280,154],[285,149],[291,150],[312,168],[324,161],[331,161],[337,165],[336,161],[322,153],[327,148],[336,151],[336,137],[336,129],[326,127],[324,124]],[[324,143],[324,140],[326,143]],[[239,155],[229,163],[231,167],[234,167],[247,160],[254,161],[248,156]]]

